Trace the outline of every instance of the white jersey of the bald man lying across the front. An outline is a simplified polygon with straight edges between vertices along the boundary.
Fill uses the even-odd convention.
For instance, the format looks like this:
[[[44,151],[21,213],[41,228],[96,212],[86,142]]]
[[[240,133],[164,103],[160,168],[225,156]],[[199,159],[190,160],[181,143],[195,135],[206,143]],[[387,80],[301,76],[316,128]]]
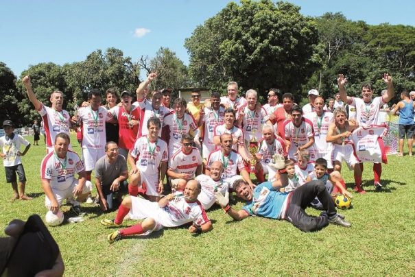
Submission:
[[[187,202],[182,195],[176,196],[161,208],[160,217],[165,227],[182,226],[192,221],[193,224],[202,226],[211,221],[199,201]]]

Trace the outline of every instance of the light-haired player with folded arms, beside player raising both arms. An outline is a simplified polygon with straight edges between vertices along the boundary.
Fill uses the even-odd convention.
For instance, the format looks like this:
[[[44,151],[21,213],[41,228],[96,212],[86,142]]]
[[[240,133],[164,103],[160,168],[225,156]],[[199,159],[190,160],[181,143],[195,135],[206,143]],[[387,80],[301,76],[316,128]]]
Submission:
[[[342,171],[342,161],[346,162],[350,169],[353,169],[355,176],[355,191],[357,193],[366,193],[361,187],[361,170],[359,159],[355,154],[351,134],[359,126],[353,122],[347,121],[347,112],[344,108],[335,108],[333,112],[334,122],[329,126],[326,140],[333,143],[333,160],[334,170]]]

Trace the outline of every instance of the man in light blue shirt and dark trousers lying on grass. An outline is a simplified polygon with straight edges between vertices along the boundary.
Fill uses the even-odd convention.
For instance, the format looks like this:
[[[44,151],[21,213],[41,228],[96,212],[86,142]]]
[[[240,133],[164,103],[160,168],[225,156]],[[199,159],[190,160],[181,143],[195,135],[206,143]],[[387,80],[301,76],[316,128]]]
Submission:
[[[276,162],[277,163],[277,162]],[[217,203],[235,220],[242,220],[250,215],[261,215],[273,219],[287,219],[298,229],[304,232],[321,230],[331,224],[350,227],[344,216],[337,214],[333,200],[320,180],[313,180],[303,184],[291,193],[280,192],[287,186],[287,173],[282,161],[276,168],[280,168],[280,180],[263,182],[254,190],[244,180],[236,180],[233,189],[237,196],[246,200],[246,206],[235,210],[229,206],[228,193],[216,193]],[[283,168],[283,169],[281,169]],[[312,217],[305,213],[305,208],[317,197],[322,203],[323,212],[319,217]]]

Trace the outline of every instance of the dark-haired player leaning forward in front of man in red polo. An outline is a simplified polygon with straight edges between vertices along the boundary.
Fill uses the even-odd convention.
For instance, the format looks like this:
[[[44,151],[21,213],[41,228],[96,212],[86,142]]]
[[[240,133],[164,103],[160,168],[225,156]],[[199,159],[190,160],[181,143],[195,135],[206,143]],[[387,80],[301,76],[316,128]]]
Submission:
[[[295,105],[291,110],[292,119],[285,121],[285,152],[288,158],[297,160],[298,151],[307,149],[310,153],[310,160],[314,160],[314,130],[313,123],[303,117],[303,110]]]

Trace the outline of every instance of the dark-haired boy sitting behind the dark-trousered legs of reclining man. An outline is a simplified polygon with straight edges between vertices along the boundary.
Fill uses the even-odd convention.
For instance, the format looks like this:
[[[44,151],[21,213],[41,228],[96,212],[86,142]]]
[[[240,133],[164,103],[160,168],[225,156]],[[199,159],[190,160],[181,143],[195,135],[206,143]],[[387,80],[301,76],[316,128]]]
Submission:
[[[342,193],[342,195],[346,195],[350,198],[353,197],[351,193],[346,191],[346,184],[339,171],[333,171],[330,174],[327,173],[327,160],[324,158],[318,158],[316,160],[314,171],[307,177],[307,182],[310,182],[311,180],[321,180],[324,182],[324,186],[326,186],[326,189],[331,196]],[[322,208],[322,204],[317,198],[311,202],[311,206],[318,209]]]

